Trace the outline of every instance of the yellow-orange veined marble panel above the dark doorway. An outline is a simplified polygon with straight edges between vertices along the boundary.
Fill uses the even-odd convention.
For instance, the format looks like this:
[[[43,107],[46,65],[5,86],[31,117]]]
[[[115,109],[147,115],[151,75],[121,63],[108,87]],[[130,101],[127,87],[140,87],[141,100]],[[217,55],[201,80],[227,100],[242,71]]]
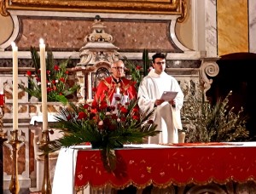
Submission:
[[[247,0],[218,0],[218,55],[248,52]]]

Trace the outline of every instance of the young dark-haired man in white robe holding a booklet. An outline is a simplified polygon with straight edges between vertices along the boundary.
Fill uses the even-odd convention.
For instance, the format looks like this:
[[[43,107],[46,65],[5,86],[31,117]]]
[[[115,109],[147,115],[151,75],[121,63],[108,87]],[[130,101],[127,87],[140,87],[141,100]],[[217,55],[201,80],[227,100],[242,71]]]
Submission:
[[[138,106],[146,111],[154,111],[154,123],[160,134],[148,137],[148,144],[178,143],[178,129],[182,129],[180,110],[183,106],[183,91],[177,80],[166,74],[166,55],[154,54],[153,67],[148,76],[143,78],[138,89]],[[177,92],[174,100],[161,100],[161,95],[166,91]]]

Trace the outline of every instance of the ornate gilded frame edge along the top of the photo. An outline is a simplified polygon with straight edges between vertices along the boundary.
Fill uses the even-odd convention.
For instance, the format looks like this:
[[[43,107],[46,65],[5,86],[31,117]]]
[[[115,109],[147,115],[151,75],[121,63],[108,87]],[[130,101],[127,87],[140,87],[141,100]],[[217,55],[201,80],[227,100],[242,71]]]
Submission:
[[[1,0],[1,14],[9,10],[45,10],[114,14],[183,15],[185,0]]]

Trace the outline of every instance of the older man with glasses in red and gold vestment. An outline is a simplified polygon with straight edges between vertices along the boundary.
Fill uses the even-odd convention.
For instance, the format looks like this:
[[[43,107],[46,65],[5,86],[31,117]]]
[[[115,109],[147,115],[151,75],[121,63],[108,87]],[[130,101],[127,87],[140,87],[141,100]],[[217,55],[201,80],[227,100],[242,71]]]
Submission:
[[[114,94],[122,94],[125,101],[137,100],[137,89],[134,83],[125,78],[125,65],[122,60],[114,61],[112,66],[112,75],[104,78],[97,87],[94,100],[106,100],[106,94],[110,103]]]

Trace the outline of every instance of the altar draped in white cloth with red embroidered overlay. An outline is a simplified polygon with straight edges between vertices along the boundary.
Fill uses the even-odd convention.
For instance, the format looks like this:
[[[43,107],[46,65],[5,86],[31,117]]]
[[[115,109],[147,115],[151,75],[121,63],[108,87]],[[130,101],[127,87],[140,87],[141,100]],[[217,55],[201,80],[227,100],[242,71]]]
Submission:
[[[77,193],[88,185],[97,189],[175,185],[180,191],[186,185],[211,185],[213,193],[240,193],[242,185],[248,189],[247,182],[248,190],[256,191],[255,151],[255,142],[125,145],[116,150],[117,168],[108,173],[101,152],[90,145],[62,148],[53,193]]]

